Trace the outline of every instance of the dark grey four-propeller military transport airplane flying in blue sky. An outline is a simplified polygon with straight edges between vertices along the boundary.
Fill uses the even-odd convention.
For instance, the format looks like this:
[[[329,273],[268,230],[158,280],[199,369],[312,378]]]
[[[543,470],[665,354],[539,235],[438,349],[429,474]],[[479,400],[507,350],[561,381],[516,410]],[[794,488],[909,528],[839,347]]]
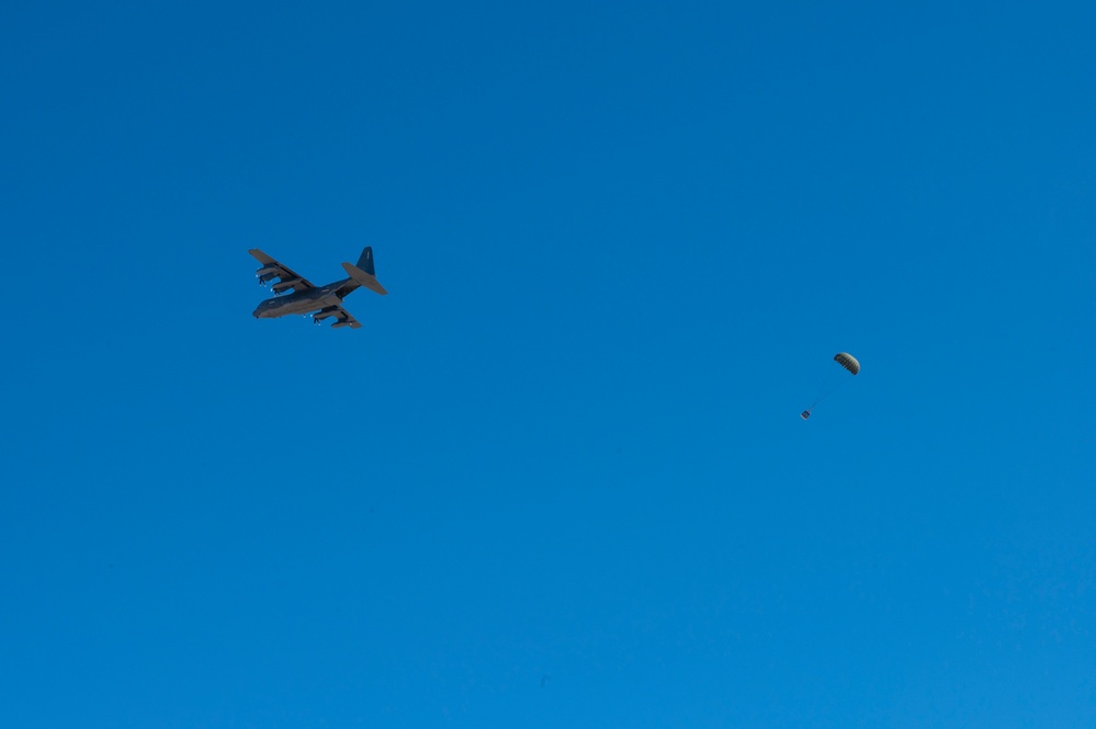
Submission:
[[[282,265],[258,248],[252,248],[248,253],[262,264],[255,273],[259,277],[260,286],[265,286],[278,278],[278,283],[270,287],[274,292],[274,298],[262,301],[252,312],[257,319],[276,319],[290,314],[307,316],[308,312],[314,311],[312,318],[317,324],[324,319],[335,317],[331,329],[338,327],[358,329],[361,327],[361,322],[342,308],[342,299],[359,286],[364,286],[381,296],[388,293],[376,281],[372,247],[366,247],[362,251],[361,258],[358,259],[358,265],[349,262],[342,264],[346,272],[350,274],[349,278],[336,281],[326,286],[314,286],[304,276],[294,273],[290,267]],[[282,292],[290,288],[293,289],[292,294],[280,296]]]

